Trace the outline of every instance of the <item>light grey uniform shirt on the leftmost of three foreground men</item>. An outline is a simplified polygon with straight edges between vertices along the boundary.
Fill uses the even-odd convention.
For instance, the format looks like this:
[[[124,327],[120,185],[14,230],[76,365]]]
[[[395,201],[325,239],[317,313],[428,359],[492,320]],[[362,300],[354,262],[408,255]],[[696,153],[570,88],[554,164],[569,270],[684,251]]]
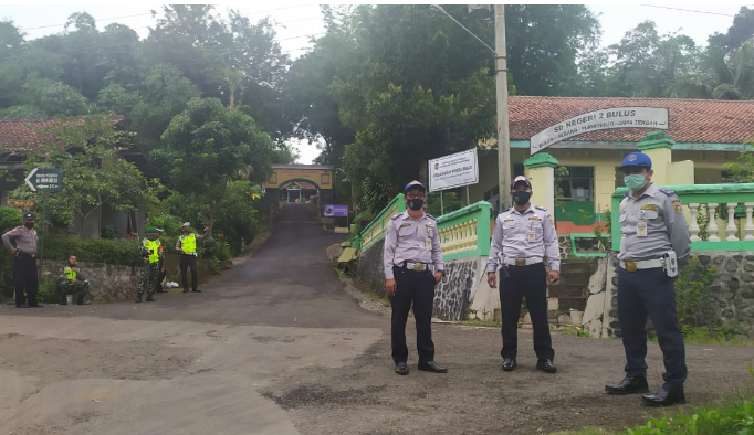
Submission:
[[[431,215],[425,213],[419,221],[415,221],[408,212],[402,212],[388,223],[383,252],[385,278],[392,279],[392,266],[404,262],[433,263],[436,270],[444,268],[437,222]]]

